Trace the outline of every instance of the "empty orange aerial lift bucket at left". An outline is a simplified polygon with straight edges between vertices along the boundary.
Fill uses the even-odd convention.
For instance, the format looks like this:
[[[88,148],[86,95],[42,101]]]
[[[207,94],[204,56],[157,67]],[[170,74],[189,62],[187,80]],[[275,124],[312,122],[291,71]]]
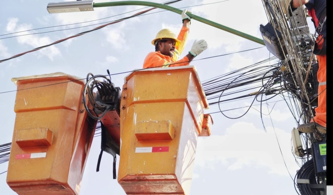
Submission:
[[[84,81],[55,73],[13,78],[16,112],[7,184],[19,195],[77,195],[96,121]]]

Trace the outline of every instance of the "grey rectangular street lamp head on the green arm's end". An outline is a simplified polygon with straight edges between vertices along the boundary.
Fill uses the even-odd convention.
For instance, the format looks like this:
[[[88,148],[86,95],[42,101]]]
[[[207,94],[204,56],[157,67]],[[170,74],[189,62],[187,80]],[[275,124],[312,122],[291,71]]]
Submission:
[[[65,12],[94,11],[93,0],[78,0],[47,4],[47,11],[50,14]]]

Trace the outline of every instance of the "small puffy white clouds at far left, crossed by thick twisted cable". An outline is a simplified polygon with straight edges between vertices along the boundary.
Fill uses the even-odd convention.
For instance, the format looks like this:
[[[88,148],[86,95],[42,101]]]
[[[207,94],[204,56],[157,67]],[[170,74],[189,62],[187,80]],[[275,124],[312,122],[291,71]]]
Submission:
[[[6,26],[6,30],[8,33],[15,33],[15,32],[21,32],[21,31],[27,31],[33,29],[31,24],[18,24],[18,19],[17,18],[10,18],[8,20],[7,26]],[[29,34],[33,33],[33,31],[29,31]],[[15,35],[25,35],[27,34],[27,32],[21,32],[21,33],[17,33]],[[44,45],[48,45],[51,44],[52,41],[49,37],[46,36],[38,36],[38,35],[27,35],[27,36],[19,36],[16,38],[17,42],[19,44],[22,45],[29,45],[32,46],[34,48],[37,47],[41,47]],[[20,51],[20,52],[24,52],[24,51]],[[49,59],[53,60],[55,57],[57,56],[61,56],[60,50],[53,46],[49,46],[46,48],[43,48],[41,50],[38,51],[38,53],[41,56],[47,56]]]

